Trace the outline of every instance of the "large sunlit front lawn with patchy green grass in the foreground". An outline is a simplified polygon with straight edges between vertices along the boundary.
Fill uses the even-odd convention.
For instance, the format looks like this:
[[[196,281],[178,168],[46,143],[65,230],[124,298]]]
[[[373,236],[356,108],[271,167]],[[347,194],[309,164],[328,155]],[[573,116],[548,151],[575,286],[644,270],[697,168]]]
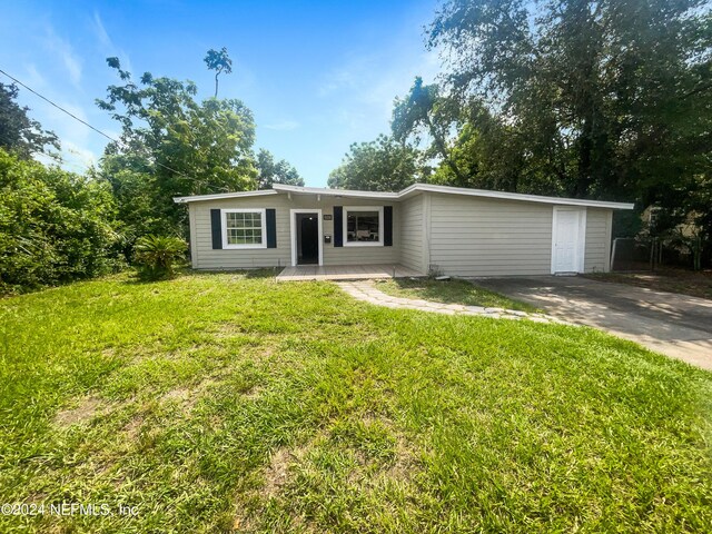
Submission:
[[[0,301],[0,532],[710,532],[712,375],[589,328],[325,283]]]

